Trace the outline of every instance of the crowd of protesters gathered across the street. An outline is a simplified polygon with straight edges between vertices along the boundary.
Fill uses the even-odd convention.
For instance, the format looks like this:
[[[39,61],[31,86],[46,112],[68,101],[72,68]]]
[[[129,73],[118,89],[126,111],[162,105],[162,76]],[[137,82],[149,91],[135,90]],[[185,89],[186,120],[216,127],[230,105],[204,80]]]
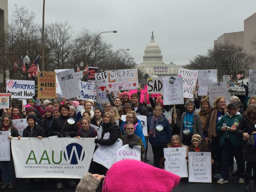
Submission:
[[[96,144],[109,146],[120,138],[123,144],[129,144],[131,148],[140,145],[142,163],[149,161],[149,141],[153,151],[154,167],[159,171],[164,168],[166,147],[186,147],[187,152],[211,152],[213,177],[217,179],[217,183],[228,182],[229,171],[233,169],[235,158],[237,171],[234,174],[238,176],[238,183],[244,183],[245,190],[251,191],[250,180],[255,179],[255,175],[252,176],[251,173],[252,170],[255,172],[256,162],[255,97],[249,99],[248,107],[244,110],[245,105],[236,96],[230,98],[228,105],[225,98],[219,96],[210,106],[208,96],[197,96],[194,91],[193,99],[185,98],[185,104],[176,105],[170,122],[164,114],[170,112],[173,106],[163,104],[163,95],[152,98],[150,94],[151,106],[148,106],[146,95],[141,95],[140,90],[138,86],[138,92],[131,95],[126,91],[118,92],[118,97],[114,98],[106,88],[109,101],[102,104],[92,99],[84,101],[76,98],[72,101],[63,98],[60,102],[57,96],[52,101],[31,98],[22,109],[12,106],[10,109],[0,110],[0,129],[10,131],[10,140],[12,137],[40,139],[49,136],[80,139],[97,136],[97,131],[91,126],[93,124],[102,128],[101,138],[95,138]],[[144,103],[140,103],[143,96]],[[78,105],[83,106],[79,112]],[[195,109],[199,111],[196,112]],[[121,120],[122,115],[126,115],[126,121]],[[147,117],[146,136],[137,115]],[[22,118],[27,119],[28,126],[24,129],[23,135],[19,135],[12,120]],[[108,132],[110,137],[103,139],[104,134]],[[15,181],[13,159],[1,161],[0,169],[4,182],[1,189],[12,189]],[[95,174],[92,177],[97,178],[99,175],[106,175],[108,169],[92,161],[89,172]],[[30,182],[40,183],[40,180]],[[76,181],[70,180],[69,185],[77,184]],[[57,179],[57,187],[63,188],[63,180]]]

